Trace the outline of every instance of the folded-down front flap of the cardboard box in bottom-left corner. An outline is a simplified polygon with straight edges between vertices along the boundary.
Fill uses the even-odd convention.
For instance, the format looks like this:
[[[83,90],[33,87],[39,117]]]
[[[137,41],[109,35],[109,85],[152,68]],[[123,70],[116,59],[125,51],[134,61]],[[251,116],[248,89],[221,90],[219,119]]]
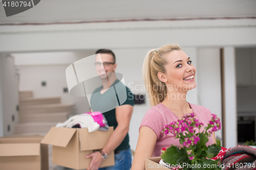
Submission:
[[[0,156],[37,156],[40,155],[40,143],[2,143]]]

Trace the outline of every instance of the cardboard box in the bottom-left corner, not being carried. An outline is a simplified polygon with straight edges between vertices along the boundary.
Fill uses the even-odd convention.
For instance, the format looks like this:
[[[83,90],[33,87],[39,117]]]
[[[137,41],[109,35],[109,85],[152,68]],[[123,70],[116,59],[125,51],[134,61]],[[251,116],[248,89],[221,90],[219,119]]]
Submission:
[[[0,169],[48,170],[48,145],[44,136],[0,137]]]

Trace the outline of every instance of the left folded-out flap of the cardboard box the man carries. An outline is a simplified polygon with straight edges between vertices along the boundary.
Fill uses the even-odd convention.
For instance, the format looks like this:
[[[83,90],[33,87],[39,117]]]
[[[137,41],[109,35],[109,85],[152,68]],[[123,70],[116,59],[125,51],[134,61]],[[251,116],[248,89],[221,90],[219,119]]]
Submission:
[[[67,147],[75,132],[75,128],[52,127],[44,139],[41,140],[41,143],[51,144],[57,147]]]

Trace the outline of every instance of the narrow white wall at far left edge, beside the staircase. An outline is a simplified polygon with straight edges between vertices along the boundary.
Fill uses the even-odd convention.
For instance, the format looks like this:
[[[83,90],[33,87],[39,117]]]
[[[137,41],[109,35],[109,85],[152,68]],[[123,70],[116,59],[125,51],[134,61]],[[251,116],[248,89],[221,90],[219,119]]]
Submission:
[[[0,118],[1,122],[3,122],[1,124],[3,127],[2,135],[8,136],[15,133],[15,123],[18,120],[18,112],[16,111],[16,106],[18,105],[18,76],[16,75],[14,58],[1,55],[0,70],[0,84],[2,86],[0,91],[0,98],[2,98],[0,99]],[[12,121],[13,115],[15,117],[14,122]],[[8,131],[8,125],[10,125],[10,131]]]

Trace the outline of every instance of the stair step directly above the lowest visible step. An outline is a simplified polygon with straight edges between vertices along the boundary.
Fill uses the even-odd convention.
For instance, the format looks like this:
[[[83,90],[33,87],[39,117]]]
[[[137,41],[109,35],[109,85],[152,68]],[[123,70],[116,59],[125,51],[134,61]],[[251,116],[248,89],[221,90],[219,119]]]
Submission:
[[[19,123],[33,122],[65,122],[70,112],[59,113],[25,113],[19,114]]]

